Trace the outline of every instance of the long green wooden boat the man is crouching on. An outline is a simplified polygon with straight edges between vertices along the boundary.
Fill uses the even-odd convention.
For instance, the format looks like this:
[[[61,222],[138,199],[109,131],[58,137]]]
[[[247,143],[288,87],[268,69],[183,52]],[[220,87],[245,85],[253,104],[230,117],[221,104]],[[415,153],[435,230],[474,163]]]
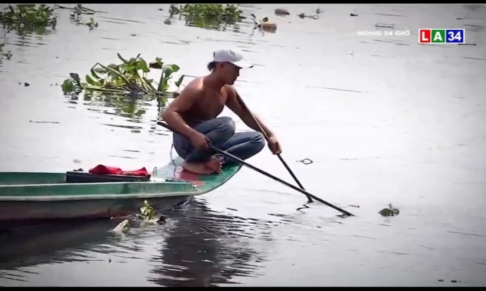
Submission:
[[[0,172],[0,226],[52,219],[110,218],[140,213],[144,200],[167,210],[212,191],[236,174],[241,165],[219,174],[196,175],[181,168],[176,157],[153,169],[150,178],[66,173]]]

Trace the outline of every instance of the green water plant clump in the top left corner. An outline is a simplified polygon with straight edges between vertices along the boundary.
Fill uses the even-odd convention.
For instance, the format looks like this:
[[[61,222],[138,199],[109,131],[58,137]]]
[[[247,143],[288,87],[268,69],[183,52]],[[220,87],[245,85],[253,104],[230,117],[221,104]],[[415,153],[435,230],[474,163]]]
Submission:
[[[55,26],[57,18],[54,16],[54,9],[45,4],[37,6],[36,4],[17,4],[15,8],[9,4],[5,8],[7,12],[0,12],[0,21],[5,25],[12,24],[30,24]]]

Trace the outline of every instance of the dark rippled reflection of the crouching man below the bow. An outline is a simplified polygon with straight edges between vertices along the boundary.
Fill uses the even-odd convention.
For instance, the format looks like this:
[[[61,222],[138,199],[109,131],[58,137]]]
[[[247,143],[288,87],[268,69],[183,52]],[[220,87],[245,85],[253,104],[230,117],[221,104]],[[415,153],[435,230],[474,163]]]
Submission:
[[[235,276],[258,276],[266,261],[274,222],[250,220],[217,213],[204,201],[172,212],[175,226],[154,256],[155,275],[163,286],[216,286],[232,283]],[[253,244],[258,243],[259,249]]]

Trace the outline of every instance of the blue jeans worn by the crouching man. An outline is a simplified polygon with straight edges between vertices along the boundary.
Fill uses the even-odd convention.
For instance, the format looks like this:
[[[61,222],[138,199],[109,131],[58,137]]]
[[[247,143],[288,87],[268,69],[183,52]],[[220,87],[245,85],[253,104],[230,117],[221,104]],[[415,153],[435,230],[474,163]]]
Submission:
[[[194,126],[194,129],[208,136],[213,146],[227,153],[246,160],[258,154],[265,146],[263,134],[257,131],[235,133],[234,121],[230,117],[218,117]],[[180,134],[174,133],[174,148],[177,154],[188,163],[205,162],[214,151],[201,151],[194,149],[191,141]],[[233,164],[235,161],[218,154],[224,164]]]

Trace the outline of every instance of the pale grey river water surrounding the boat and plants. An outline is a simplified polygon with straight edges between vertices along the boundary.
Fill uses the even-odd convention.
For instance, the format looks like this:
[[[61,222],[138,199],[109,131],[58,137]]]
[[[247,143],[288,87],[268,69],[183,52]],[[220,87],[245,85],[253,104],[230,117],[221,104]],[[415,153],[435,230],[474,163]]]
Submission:
[[[254,31],[251,18],[188,26],[166,4],[85,6],[99,11],[92,30],[66,9],[56,10],[55,30],[0,30],[12,53],[0,61],[0,171],[167,164],[171,137],[156,125],[156,100],[73,99],[60,84],[119,62],[117,53],[203,75],[214,50],[236,46],[256,66],[235,86],[276,132],[282,157],[309,192],[356,216],[318,202],[298,211],[305,196],[244,167],[166,213],[165,225],[125,235],[111,232],[111,221],[3,234],[0,285],[486,284],[485,6],[241,5],[245,16],[275,22],[273,33]],[[297,16],[319,7],[317,19]],[[465,28],[476,45],[421,45],[419,28]],[[306,158],[313,163],[298,162]],[[248,162],[294,183],[267,149]],[[378,214],[388,204],[399,215]]]

